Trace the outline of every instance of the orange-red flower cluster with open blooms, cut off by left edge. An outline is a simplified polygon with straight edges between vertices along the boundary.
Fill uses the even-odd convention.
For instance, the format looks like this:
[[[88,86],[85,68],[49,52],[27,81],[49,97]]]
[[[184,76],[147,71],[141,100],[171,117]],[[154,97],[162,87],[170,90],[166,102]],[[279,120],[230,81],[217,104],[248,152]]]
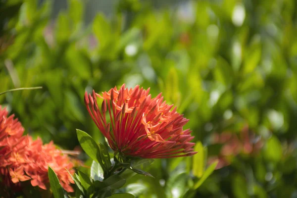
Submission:
[[[75,172],[71,159],[52,142],[43,145],[41,139],[33,141],[30,136],[23,136],[21,123],[14,115],[7,115],[6,109],[0,106],[0,186],[21,190],[20,182],[30,180],[32,186],[46,190],[50,166],[62,187],[73,192],[70,183],[74,181],[67,172]]]

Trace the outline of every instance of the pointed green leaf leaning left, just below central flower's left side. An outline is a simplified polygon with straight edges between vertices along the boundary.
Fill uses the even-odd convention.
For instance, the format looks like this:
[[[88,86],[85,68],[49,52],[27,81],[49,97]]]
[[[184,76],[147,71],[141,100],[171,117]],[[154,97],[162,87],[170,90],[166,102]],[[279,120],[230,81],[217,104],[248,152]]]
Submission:
[[[100,148],[95,140],[86,132],[76,129],[77,139],[84,151],[103,168]]]

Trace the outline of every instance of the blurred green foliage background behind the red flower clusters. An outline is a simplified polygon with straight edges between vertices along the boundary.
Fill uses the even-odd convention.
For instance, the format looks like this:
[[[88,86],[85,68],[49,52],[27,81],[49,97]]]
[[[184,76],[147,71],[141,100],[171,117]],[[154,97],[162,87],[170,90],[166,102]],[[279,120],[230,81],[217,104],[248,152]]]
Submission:
[[[85,91],[150,87],[220,160],[195,197],[297,198],[296,32],[296,0],[0,0],[0,92],[43,87],[0,104],[26,133],[74,149],[75,129],[104,141]],[[155,160],[156,179],[127,189],[179,198],[191,160]]]

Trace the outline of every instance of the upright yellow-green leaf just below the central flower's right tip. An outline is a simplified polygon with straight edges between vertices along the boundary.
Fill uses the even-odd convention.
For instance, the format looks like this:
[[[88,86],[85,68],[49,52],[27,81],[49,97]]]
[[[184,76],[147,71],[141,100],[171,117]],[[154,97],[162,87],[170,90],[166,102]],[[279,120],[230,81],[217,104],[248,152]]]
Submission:
[[[201,142],[196,143],[194,150],[198,153],[193,156],[193,174],[200,178],[204,171],[204,150]]]

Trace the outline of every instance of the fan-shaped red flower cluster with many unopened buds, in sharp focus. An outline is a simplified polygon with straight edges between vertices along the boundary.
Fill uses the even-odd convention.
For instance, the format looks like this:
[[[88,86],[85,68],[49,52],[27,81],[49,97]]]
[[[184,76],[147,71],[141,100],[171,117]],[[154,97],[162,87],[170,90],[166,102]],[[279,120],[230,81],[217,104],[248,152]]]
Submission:
[[[195,143],[190,129],[183,130],[189,121],[183,115],[171,110],[159,94],[151,98],[148,90],[127,89],[125,85],[116,87],[102,96],[85,94],[87,109],[109,146],[124,156],[142,158],[169,158],[191,156]],[[101,111],[97,97],[103,99]],[[106,121],[106,114],[110,122]],[[110,128],[112,130],[110,130]]]

